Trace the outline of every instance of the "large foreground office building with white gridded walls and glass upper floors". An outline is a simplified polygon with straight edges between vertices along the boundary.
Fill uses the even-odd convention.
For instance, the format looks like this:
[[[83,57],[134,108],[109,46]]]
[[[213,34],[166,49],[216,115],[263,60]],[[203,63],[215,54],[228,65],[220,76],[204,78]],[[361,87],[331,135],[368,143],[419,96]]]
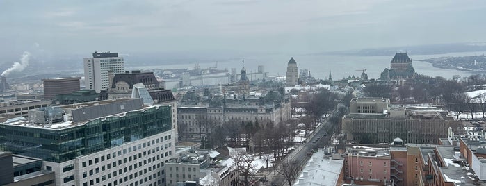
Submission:
[[[170,105],[116,99],[29,110],[0,123],[0,151],[43,160],[55,185],[165,185]]]

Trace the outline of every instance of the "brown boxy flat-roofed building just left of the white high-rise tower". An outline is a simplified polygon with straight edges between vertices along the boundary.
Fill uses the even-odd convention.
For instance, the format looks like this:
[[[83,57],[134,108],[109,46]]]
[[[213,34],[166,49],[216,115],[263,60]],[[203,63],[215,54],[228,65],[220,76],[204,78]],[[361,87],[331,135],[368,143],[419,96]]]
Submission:
[[[79,80],[81,78],[51,78],[43,79],[44,83],[44,98],[54,99],[59,94],[71,94],[79,91],[81,85]]]

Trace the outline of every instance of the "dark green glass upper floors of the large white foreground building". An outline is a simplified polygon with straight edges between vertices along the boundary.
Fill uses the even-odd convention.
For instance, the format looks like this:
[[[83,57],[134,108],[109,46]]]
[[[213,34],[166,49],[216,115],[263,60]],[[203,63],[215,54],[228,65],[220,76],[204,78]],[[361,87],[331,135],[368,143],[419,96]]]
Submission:
[[[0,150],[65,162],[172,129],[171,108],[153,106],[61,129],[0,124]]]

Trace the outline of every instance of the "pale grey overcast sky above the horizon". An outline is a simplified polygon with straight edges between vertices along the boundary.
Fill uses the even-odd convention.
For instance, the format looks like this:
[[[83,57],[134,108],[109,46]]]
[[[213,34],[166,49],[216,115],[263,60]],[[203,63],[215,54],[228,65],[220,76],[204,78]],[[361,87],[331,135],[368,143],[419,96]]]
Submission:
[[[444,0],[0,0],[0,54],[297,54],[485,42],[485,10],[486,1]]]

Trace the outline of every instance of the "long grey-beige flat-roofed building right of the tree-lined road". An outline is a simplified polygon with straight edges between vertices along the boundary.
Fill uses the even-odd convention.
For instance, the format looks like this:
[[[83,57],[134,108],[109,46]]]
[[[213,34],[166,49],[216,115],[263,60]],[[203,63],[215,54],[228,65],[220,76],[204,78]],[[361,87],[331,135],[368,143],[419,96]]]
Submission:
[[[364,111],[375,109],[366,108]],[[438,144],[440,137],[447,136],[447,128],[456,124],[447,111],[439,108],[396,107],[389,108],[386,113],[345,115],[343,133],[346,133],[347,140],[363,144],[387,143],[396,137],[405,143]]]

